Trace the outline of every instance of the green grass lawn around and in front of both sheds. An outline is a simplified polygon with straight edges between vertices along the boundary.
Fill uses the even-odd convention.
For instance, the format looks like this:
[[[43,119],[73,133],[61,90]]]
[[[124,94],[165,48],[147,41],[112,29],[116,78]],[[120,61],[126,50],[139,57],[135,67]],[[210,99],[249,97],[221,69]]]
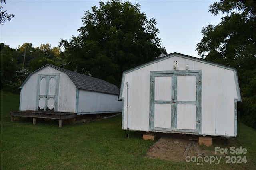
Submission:
[[[156,141],[142,139],[144,132],[121,129],[121,116],[90,123],[68,124],[58,127],[58,121],[23,119],[10,121],[10,111],[18,110],[19,95],[1,91],[0,169],[81,169],[81,170],[171,170],[171,169],[254,169],[256,167],[256,130],[238,123],[238,136],[213,141],[215,146],[230,148],[242,146],[247,163],[220,164],[204,162],[171,162],[145,158],[147,150]]]

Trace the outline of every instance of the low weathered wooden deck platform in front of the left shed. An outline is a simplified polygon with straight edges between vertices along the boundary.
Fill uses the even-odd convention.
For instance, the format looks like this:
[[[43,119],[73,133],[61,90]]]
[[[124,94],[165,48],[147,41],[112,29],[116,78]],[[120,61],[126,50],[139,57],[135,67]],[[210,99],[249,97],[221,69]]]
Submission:
[[[32,111],[32,110],[10,111],[10,115],[11,115],[11,121],[14,121],[14,116],[32,117],[33,125],[36,125],[36,118],[58,119],[59,127],[62,127],[63,119],[70,119],[70,118],[76,117],[76,113],[46,112],[46,111]]]

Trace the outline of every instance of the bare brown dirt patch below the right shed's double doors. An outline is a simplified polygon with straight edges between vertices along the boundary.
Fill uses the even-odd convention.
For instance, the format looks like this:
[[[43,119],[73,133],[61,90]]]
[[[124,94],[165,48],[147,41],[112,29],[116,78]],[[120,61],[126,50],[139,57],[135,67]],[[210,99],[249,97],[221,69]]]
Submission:
[[[198,135],[162,134],[150,147],[146,157],[184,162],[186,156],[207,156],[209,151],[198,147]]]

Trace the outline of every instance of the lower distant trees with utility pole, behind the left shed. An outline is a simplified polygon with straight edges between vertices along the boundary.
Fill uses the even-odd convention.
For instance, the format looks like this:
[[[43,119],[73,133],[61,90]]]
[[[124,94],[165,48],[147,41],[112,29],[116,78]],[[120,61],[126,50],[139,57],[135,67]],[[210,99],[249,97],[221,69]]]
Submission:
[[[0,50],[1,90],[15,92],[30,72],[48,63],[63,64],[64,53],[60,47],[52,48],[50,44],[35,48],[31,43],[24,43],[13,49],[1,43]]]

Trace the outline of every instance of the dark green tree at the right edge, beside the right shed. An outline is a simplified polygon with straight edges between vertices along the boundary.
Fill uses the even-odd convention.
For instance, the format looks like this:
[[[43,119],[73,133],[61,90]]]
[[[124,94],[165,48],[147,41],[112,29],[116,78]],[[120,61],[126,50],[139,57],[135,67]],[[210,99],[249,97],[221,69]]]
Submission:
[[[238,70],[243,101],[239,113],[256,127],[256,1],[220,0],[209,11],[226,16],[220,24],[202,29],[196,50],[206,60]]]

